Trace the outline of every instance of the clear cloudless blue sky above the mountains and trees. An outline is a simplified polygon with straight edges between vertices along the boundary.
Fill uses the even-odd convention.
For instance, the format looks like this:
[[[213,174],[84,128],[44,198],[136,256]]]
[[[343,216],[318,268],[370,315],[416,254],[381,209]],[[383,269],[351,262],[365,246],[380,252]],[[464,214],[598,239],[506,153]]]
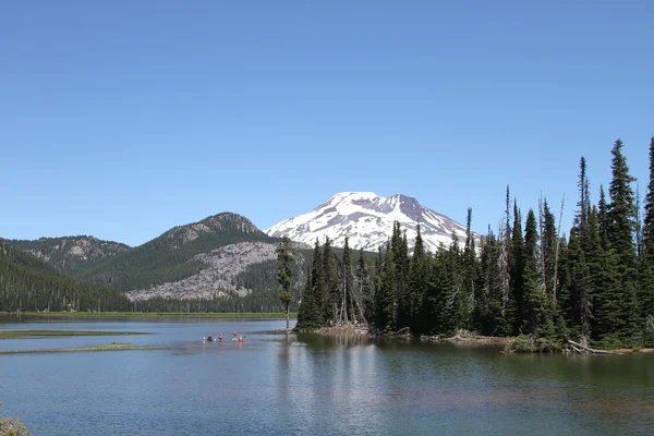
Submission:
[[[341,191],[494,228],[646,187],[654,1],[2,1],[0,237],[262,229]],[[558,210],[557,210],[558,215]]]

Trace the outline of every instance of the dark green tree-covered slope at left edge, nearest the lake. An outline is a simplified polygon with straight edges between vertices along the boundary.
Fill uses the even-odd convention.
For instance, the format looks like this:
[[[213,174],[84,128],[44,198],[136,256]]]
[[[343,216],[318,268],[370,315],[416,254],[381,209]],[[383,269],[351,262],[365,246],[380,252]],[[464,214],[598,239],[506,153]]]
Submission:
[[[83,283],[0,240],[0,312],[129,311],[120,292]]]

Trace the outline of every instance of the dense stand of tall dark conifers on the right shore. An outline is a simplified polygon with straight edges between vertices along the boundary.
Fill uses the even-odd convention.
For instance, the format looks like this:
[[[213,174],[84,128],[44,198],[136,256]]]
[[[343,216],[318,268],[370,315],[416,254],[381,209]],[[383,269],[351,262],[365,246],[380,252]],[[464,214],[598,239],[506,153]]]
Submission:
[[[644,208],[618,140],[611,149],[608,197],[591,198],[584,158],[579,198],[566,237],[546,199],[523,213],[507,187],[496,231],[475,246],[452,235],[436,253],[415,240],[412,256],[399,223],[372,264],[346,247],[316,241],[298,314],[298,329],[368,324],[413,335],[468,329],[489,336],[525,335],[606,348],[654,346],[654,137]],[[562,213],[561,204],[561,213]],[[644,211],[641,211],[644,209]],[[558,222],[560,222],[560,213]]]

